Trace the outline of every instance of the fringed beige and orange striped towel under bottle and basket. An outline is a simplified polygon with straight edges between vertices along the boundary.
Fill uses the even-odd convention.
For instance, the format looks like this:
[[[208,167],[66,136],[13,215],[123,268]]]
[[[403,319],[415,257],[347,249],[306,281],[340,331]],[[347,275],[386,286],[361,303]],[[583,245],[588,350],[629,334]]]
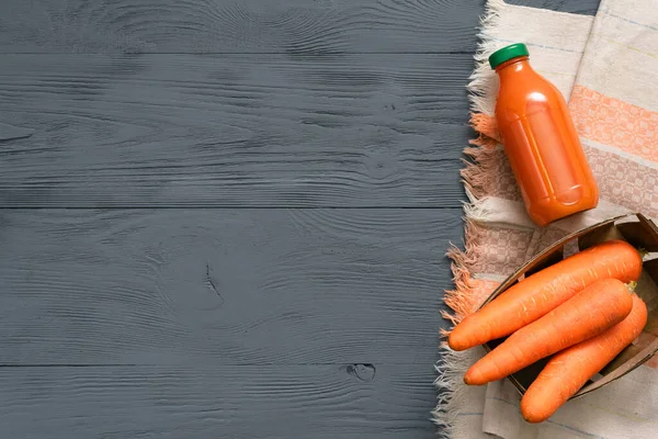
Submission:
[[[567,233],[639,211],[658,218],[658,0],[603,0],[595,16],[490,0],[469,85],[480,134],[463,170],[469,198],[466,245],[452,249],[455,290],[445,295],[457,322],[499,282]],[[525,214],[492,119],[497,77],[487,57],[510,43],[529,46],[531,64],[569,102],[601,192],[600,206],[540,229]],[[643,340],[639,340],[642,344]],[[434,420],[451,439],[658,438],[658,360],[582,398],[541,425],[519,414],[507,381],[468,387],[462,378],[480,349],[442,347]]]

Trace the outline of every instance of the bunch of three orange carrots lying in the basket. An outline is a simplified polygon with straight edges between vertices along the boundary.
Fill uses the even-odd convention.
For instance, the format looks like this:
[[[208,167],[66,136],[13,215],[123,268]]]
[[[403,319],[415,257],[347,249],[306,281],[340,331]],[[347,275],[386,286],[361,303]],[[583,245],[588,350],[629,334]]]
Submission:
[[[610,240],[510,286],[449,336],[454,350],[507,337],[465,383],[483,385],[553,356],[521,399],[525,420],[548,419],[642,333],[647,307],[626,285],[640,272],[639,252]]]

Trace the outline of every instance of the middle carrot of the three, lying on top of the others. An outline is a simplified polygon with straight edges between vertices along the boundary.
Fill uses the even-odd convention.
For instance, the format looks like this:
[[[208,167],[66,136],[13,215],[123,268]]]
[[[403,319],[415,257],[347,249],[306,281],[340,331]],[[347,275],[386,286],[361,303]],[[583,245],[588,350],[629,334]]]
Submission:
[[[597,281],[509,336],[468,369],[464,382],[481,385],[500,380],[542,358],[598,336],[626,318],[632,308],[632,294],[622,281]]]

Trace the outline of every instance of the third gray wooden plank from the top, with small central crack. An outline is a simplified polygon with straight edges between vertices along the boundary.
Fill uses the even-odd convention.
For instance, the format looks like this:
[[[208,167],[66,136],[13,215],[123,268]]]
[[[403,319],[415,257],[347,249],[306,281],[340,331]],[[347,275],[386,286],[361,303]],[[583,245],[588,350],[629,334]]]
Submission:
[[[0,365],[428,368],[457,212],[0,211]]]

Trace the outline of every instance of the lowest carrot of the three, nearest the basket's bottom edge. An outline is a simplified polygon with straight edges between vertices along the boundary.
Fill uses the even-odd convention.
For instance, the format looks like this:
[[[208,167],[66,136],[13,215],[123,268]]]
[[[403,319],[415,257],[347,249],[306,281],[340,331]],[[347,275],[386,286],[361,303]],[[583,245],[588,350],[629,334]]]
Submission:
[[[633,295],[633,309],[605,333],[571,346],[553,357],[521,399],[521,414],[529,423],[548,419],[642,334],[647,306]]]

